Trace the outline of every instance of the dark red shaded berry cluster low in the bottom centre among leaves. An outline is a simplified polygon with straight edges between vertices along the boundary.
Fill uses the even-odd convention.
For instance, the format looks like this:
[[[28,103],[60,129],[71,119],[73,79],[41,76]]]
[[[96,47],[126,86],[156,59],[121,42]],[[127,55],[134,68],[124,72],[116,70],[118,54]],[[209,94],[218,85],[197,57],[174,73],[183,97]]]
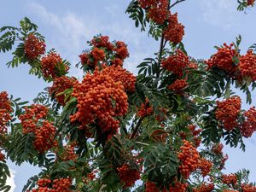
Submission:
[[[140,172],[136,169],[131,169],[127,164],[117,168],[117,171],[121,182],[125,183],[125,187],[133,186],[140,179]]]

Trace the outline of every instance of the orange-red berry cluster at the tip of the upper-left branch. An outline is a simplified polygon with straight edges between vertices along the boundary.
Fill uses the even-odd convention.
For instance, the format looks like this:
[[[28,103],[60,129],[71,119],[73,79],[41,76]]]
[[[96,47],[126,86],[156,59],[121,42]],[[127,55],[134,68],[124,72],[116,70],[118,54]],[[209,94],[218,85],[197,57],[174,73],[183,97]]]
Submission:
[[[25,40],[24,44],[25,55],[29,60],[38,58],[39,55],[44,55],[45,44],[40,41],[36,36],[30,33]]]

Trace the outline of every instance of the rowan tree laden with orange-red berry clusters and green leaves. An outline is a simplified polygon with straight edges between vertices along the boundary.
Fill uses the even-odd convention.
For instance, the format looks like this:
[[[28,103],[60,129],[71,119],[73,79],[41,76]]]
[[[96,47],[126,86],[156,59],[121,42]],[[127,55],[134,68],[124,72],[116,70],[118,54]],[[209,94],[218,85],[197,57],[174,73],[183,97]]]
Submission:
[[[0,51],[13,50],[7,66],[29,65],[49,83],[32,104],[0,92],[1,191],[10,188],[6,159],[42,168],[25,183],[29,192],[256,191],[248,170],[224,174],[222,151],[245,150],[244,139],[256,131],[255,107],[241,108],[256,87],[256,44],[242,53],[238,36],[210,58],[189,56],[185,26],[172,12],[183,2],[131,1],[126,14],[160,40],[137,75],[123,68],[129,46],[112,37],[86,39],[75,65],[84,72],[79,81],[69,76],[74,65],[46,46],[28,18],[0,29]],[[254,4],[237,2],[240,11]]]

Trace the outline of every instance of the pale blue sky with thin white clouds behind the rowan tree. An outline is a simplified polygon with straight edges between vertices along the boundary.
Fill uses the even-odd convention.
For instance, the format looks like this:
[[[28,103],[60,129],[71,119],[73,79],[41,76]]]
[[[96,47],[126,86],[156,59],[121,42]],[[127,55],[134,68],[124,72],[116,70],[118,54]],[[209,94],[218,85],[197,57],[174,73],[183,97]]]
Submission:
[[[0,26],[18,26],[25,16],[36,23],[46,38],[47,49],[55,48],[61,57],[73,65],[79,62],[79,54],[86,49],[86,41],[96,34],[108,35],[110,40],[121,40],[128,44],[130,57],[125,68],[137,73],[137,65],[143,58],[153,57],[160,42],[148,38],[147,32],[140,32],[133,20],[125,15],[129,0],[9,0],[1,2]],[[236,11],[236,0],[187,0],[177,5],[178,20],[185,26],[183,44],[189,55],[197,59],[207,59],[214,54],[213,46],[230,44],[241,34],[241,53],[256,43],[256,9],[247,13]],[[23,101],[32,101],[38,92],[50,84],[28,75],[29,67],[7,68],[10,54],[0,54],[0,91],[7,90]],[[78,69],[71,71],[74,76],[82,76]],[[255,105],[255,92],[253,105]],[[241,95],[243,102],[245,96]],[[248,108],[243,105],[243,108]],[[246,140],[247,150],[224,148],[230,160],[226,172],[236,172],[241,168],[251,170],[251,181],[256,181],[256,134]],[[20,192],[26,180],[39,172],[38,167],[28,164],[20,167],[9,162],[12,191]]]

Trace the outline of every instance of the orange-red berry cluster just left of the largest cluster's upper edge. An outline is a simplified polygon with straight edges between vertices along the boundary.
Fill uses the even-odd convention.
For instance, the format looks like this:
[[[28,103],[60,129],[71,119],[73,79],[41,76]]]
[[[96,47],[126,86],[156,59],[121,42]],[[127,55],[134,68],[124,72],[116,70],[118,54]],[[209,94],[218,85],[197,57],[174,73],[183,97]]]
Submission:
[[[59,93],[63,92],[64,90],[70,89],[73,87],[73,82],[75,82],[75,78],[67,77],[67,76],[61,76],[60,78],[56,78],[54,80],[53,85],[49,88],[49,94],[55,96],[55,99],[57,102],[59,102],[62,106],[65,106],[65,97],[66,95],[61,94],[57,96]]]

